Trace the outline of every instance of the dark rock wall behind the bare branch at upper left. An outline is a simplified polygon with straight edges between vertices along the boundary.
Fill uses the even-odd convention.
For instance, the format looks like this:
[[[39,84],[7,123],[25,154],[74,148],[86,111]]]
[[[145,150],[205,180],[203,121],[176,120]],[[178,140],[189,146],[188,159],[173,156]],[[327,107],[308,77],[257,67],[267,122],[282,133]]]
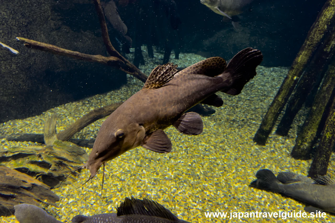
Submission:
[[[53,106],[126,83],[125,73],[119,70],[30,50],[15,39],[21,36],[73,51],[108,56],[101,34],[96,35],[99,22],[93,4],[77,1],[89,4],[93,12],[89,13],[74,2],[1,1],[0,42],[18,50],[19,54],[0,47],[0,123],[38,115]],[[92,24],[91,30],[71,25],[81,23],[78,17],[71,17],[71,13],[85,14],[82,23]]]

